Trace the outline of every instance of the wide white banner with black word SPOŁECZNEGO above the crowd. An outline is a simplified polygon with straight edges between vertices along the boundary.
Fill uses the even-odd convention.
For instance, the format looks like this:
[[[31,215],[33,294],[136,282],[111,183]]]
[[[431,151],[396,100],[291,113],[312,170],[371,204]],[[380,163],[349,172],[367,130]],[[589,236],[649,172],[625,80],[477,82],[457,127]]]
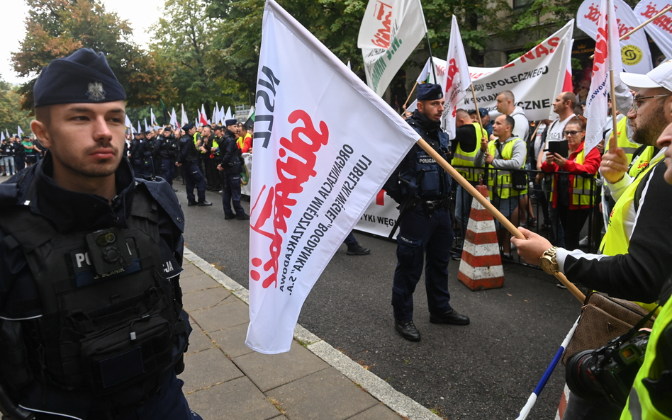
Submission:
[[[516,105],[525,110],[530,120],[545,120],[552,112],[552,103],[558,93],[571,91],[573,19],[532,50],[504,67],[469,67],[471,84],[476,91],[478,107],[495,110],[496,98],[501,91],[512,91]],[[434,57],[438,84],[443,84],[446,62]],[[433,80],[430,60],[418,76],[418,83]],[[458,108],[475,109],[471,89]],[[447,101],[447,99],[446,99]],[[444,121],[445,124],[445,121]],[[449,127],[444,125],[444,130]]]

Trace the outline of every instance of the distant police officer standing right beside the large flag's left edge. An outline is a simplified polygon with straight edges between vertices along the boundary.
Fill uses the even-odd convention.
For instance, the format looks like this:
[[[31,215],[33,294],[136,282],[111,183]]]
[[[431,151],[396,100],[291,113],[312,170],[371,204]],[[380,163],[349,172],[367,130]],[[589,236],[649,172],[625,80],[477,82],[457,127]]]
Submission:
[[[222,193],[222,206],[224,208],[224,220],[235,218],[236,220],[250,220],[250,216],[245,214],[245,209],[240,205],[240,171],[242,170],[240,149],[236,144],[235,130],[237,121],[235,119],[226,120],[226,129],[220,147],[222,160],[217,165],[217,169],[223,173],[224,191]],[[233,210],[231,203],[233,202]],[[235,211],[235,213],[234,213]]]

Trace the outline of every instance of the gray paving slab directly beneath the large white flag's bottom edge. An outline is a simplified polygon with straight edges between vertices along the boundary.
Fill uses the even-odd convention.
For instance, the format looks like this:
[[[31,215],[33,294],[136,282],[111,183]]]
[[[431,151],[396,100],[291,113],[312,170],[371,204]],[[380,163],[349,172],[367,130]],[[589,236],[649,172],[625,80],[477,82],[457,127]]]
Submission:
[[[292,341],[291,350],[287,353],[262,354],[253,351],[234,358],[233,363],[263,392],[329,367],[296,341]]]

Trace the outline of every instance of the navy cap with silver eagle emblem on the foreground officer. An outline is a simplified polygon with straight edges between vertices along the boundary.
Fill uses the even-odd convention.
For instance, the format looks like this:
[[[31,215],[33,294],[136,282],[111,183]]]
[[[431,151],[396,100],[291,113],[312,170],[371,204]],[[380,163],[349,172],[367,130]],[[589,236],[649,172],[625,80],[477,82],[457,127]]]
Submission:
[[[123,101],[126,93],[102,52],[89,48],[44,67],[33,87],[35,108],[58,103]]]

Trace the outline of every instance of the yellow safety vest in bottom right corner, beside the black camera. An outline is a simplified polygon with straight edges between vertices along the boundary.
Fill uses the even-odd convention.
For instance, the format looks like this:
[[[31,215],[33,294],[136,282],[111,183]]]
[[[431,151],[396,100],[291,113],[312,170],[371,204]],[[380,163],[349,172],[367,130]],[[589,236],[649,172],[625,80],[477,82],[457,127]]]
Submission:
[[[667,305],[663,307],[661,312],[656,317],[656,322],[654,322],[654,327],[651,329],[651,336],[649,336],[649,344],[646,345],[646,357],[644,358],[644,363],[642,367],[639,368],[637,377],[634,378],[634,384],[632,384],[632,390],[630,390],[630,396],[627,399],[625,404],[625,409],[621,413],[621,420],[671,420],[672,417],[663,415],[661,412],[654,407],[654,404],[651,402],[651,396],[649,395],[649,390],[646,389],[646,386],[642,382],[645,378],[651,378],[652,380],[657,380],[661,374],[661,362],[656,363],[656,351],[658,351],[657,344],[663,330],[672,323],[672,305],[668,302]],[[663,355],[662,357],[665,357]],[[664,369],[664,368],[663,368]],[[639,404],[631,404],[633,399],[637,399]]]

